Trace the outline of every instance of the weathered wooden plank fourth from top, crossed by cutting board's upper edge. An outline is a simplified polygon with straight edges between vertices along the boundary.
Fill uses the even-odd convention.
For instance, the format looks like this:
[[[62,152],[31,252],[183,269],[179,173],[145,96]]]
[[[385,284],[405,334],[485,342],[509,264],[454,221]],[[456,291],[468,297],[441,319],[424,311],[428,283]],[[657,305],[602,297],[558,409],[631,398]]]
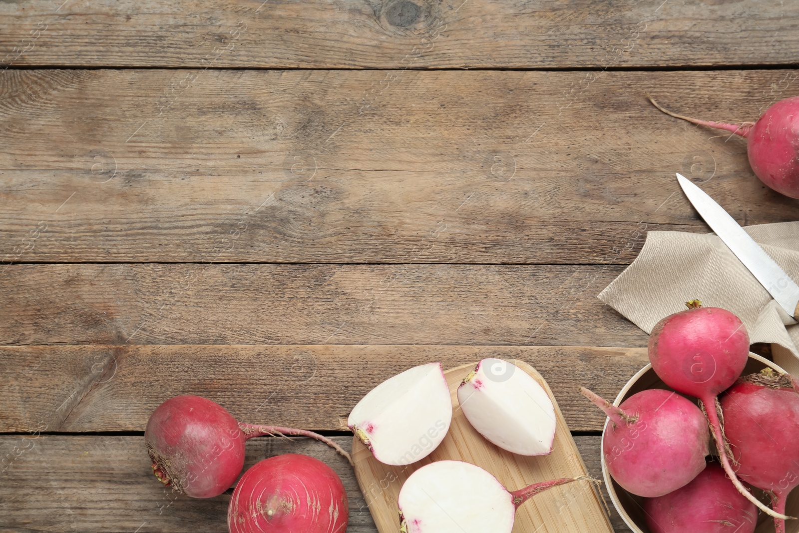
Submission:
[[[605,416],[578,393],[614,398],[647,362],[646,348],[535,346],[143,345],[0,348],[0,432],[143,431],[161,402],[197,394],[238,420],[347,431],[347,416],[383,380],[417,364],[485,357],[538,370],[573,431]]]

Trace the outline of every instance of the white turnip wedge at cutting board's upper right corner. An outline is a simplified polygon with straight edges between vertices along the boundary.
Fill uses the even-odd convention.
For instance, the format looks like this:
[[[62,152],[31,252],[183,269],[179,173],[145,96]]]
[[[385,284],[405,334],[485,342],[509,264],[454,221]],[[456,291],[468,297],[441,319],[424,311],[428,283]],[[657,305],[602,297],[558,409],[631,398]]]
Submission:
[[[469,423],[491,443],[519,455],[549,455],[555,406],[527,372],[502,359],[483,359],[458,388]]]

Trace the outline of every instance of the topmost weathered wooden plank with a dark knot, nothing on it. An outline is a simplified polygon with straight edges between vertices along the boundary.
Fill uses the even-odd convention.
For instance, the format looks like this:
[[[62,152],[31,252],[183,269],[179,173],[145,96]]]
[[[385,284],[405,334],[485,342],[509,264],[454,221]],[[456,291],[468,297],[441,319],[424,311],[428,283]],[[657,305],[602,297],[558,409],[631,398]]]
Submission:
[[[6,1],[5,65],[279,68],[789,64],[795,2]]]

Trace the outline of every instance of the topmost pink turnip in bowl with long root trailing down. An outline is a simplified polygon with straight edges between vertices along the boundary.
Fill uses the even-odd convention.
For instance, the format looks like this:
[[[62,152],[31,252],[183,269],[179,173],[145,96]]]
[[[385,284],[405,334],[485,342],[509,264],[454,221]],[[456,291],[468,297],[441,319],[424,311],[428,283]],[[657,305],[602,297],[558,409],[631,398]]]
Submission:
[[[717,396],[741,376],[749,359],[749,334],[743,322],[726,309],[703,308],[699,300],[686,304],[686,311],[666,316],[652,329],[649,340],[652,368],[675,391],[699,399],[720,451],[721,465],[738,491],[767,515],[786,519],[787,516],[766,507],[741,484],[724,453]]]

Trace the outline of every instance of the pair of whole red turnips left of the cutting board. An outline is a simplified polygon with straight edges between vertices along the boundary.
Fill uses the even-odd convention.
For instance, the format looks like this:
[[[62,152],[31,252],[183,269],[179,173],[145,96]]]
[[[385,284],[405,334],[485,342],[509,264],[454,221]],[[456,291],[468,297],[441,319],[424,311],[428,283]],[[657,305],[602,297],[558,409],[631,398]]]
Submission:
[[[220,404],[175,396],[147,423],[145,444],[153,472],[174,491],[193,498],[221,495],[244,467],[244,442],[256,436],[308,436],[344,455],[338,444],[304,429],[242,424]],[[324,513],[320,508],[324,507]],[[308,455],[264,459],[244,472],[228,507],[232,533],[344,533],[349,507],[336,472]]]

